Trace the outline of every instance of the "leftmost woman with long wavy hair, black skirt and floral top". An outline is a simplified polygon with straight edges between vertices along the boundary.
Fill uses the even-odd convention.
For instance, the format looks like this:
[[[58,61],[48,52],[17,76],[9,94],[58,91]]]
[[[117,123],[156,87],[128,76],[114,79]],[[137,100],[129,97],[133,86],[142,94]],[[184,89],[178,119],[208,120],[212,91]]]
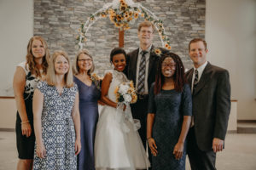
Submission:
[[[17,169],[32,169],[35,134],[33,129],[32,98],[38,82],[46,75],[49,49],[43,37],[34,36],[27,44],[26,61],[17,65],[13,88],[18,109],[16,142],[19,155]]]

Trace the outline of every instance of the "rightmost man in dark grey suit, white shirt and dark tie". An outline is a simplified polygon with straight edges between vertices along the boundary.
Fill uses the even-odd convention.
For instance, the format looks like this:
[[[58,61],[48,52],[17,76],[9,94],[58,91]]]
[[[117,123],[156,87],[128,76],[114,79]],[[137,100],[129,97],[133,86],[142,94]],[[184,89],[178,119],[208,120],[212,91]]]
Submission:
[[[192,170],[216,169],[216,153],[224,149],[230,116],[229,72],[207,61],[207,42],[189,42],[194,68],[187,73],[193,100],[193,118],[188,135]]]

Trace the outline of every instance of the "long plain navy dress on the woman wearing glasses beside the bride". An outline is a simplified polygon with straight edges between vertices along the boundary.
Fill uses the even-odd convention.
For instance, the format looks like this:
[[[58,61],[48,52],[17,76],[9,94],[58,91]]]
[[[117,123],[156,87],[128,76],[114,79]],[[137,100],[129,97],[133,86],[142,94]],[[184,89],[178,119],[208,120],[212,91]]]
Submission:
[[[94,141],[96,133],[96,123],[98,121],[97,100],[101,97],[101,92],[94,82],[90,86],[81,82],[77,77],[73,81],[79,87],[79,111],[81,121],[81,144],[82,149],[78,156],[78,169],[95,169],[94,163]]]

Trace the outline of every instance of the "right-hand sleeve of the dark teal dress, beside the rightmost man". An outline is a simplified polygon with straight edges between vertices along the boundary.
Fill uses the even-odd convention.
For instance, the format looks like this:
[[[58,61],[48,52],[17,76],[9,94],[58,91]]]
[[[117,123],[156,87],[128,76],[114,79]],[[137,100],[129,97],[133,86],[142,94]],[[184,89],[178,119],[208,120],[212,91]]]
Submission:
[[[182,113],[183,116],[192,116],[192,95],[189,84],[185,84],[182,93]]]

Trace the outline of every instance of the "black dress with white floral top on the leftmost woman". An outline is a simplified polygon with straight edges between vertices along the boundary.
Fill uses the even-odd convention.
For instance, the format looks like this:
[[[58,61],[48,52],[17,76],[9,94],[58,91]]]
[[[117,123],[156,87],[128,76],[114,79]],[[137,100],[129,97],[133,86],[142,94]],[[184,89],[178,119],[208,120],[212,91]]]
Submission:
[[[30,137],[26,138],[26,136],[21,133],[21,119],[19,112],[17,111],[16,123],[15,123],[15,131],[16,131],[16,144],[18,150],[18,157],[20,159],[33,159],[34,157],[34,145],[35,145],[35,133],[33,126],[33,112],[32,112],[32,99],[34,90],[37,88],[38,82],[40,81],[38,77],[32,75],[32,72],[29,71],[28,65],[26,62],[22,62],[19,65],[26,73],[26,85],[24,89],[24,100],[26,106],[26,115],[28,121],[32,128],[32,133]]]

